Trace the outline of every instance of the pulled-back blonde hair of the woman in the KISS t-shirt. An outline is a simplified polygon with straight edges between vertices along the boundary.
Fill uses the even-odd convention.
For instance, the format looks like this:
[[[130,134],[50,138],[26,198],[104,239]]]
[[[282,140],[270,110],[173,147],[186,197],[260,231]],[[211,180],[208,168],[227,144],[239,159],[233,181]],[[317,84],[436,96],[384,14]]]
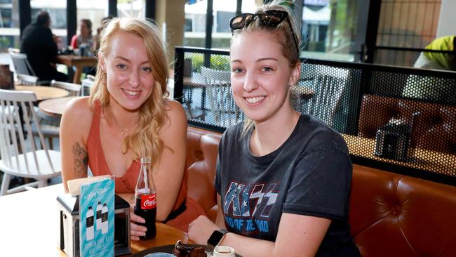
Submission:
[[[261,25],[261,23],[258,21],[257,18],[250,22],[250,24],[247,27],[244,27],[243,29],[236,29],[233,32],[233,37],[231,39],[231,43],[233,43],[233,40],[238,37],[239,34],[243,32],[257,32],[257,31],[262,31],[262,32],[269,32],[271,34],[275,34],[277,37],[275,39],[277,42],[281,45],[281,52],[282,55],[288,60],[288,65],[293,68],[297,65],[298,62],[300,62],[299,58],[299,48],[301,45],[301,29],[297,28],[296,22],[295,22],[295,17],[293,15],[293,12],[288,8],[287,6],[284,6],[284,4],[287,4],[289,1],[284,1],[284,0],[274,0],[271,1],[269,4],[264,4],[262,6],[258,6],[257,9],[255,10],[255,13],[262,13],[264,11],[269,11],[269,10],[278,10],[278,11],[286,11],[288,13],[288,18],[290,19],[291,27],[288,25],[288,22],[286,20],[283,20],[277,27],[268,27]],[[293,35],[293,32],[295,34]],[[293,40],[293,37],[295,37],[296,44],[298,46],[298,49],[296,49],[295,46],[295,41]],[[290,100],[293,101],[292,98]],[[291,103],[290,103],[291,104]],[[253,121],[251,119],[248,119],[246,117],[243,125],[243,130],[241,133],[241,136],[245,136],[246,133],[254,126]]]

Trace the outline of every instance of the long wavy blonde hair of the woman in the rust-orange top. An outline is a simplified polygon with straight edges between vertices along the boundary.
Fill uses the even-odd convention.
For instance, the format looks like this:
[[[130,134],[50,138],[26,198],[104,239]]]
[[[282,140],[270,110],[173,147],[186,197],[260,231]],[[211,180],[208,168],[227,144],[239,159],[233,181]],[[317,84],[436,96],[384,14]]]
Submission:
[[[163,152],[163,141],[159,138],[159,131],[166,119],[168,91],[168,62],[166,53],[161,42],[161,32],[159,28],[149,20],[137,18],[115,18],[110,20],[103,29],[100,39],[99,53],[107,56],[111,51],[111,43],[114,36],[119,32],[128,32],[141,37],[152,67],[152,75],[155,78],[155,85],[150,97],[143,103],[139,110],[138,124],[129,136],[122,143],[122,152],[130,151],[133,159],[140,157],[152,157],[156,162]],[[90,107],[93,110],[96,101],[100,101],[102,107],[109,105],[109,92],[106,80],[103,81],[104,71],[100,62],[97,65],[95,84],[90,90]],[[105,83],[104,83],[105,82]]]

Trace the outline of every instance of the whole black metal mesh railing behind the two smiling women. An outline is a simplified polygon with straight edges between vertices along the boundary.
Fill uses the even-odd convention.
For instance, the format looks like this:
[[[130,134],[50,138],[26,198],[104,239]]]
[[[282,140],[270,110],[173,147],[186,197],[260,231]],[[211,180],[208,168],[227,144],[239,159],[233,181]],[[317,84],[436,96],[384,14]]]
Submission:
[[[229,53],[176,48],[175,98],[189,124],[224,131],[243,121]],[[456,185],[456,72],[307,59],[291,88],[296,110],[347,142],[355,163]]]

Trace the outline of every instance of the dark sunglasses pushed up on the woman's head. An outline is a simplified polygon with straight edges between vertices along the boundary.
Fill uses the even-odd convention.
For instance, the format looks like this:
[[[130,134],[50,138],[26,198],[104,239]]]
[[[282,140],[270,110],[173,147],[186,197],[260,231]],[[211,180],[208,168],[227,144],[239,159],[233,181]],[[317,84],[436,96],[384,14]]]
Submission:
[[[267,27],[277,27],[283,20],[287,20],[288,25],[290,26],[291,33],[293,34],[293,41],[295,42],[296,52],[297,55],[300,55],[300,48],[297,46],[296,41],[296,34],[293,31],[293,26],[291,25],[290,18],[288,18],[288,13],[286,11],[280,10],[269,10],[264,11],[262,13],[241,13],[239,15],[234,16],[229,20],[229,27],[232,29],[232,33],[236,29],[243,29],[244,27],[248,27],[250,22],[252,22],[255,17],[258,18],[258,21],[261,25]]]

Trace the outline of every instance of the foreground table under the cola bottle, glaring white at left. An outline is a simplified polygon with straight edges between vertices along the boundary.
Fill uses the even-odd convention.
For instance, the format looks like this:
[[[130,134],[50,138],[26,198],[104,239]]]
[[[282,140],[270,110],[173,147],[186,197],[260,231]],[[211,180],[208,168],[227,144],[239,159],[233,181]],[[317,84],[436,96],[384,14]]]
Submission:
[[[57,244],[56,197],[63,192],[58,184],[0,197],[0,256],[66,256]],[[166,224],[156,223],[156,230],[155,239],[132,241],[132,252],[189,242],[187,233]]]

